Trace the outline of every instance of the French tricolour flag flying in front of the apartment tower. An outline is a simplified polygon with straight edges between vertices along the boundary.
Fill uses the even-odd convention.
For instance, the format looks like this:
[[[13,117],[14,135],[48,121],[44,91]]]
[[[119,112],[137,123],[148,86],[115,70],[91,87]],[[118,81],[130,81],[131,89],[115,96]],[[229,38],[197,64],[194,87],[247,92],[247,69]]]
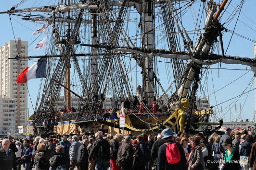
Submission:
[[[40,58],[37,62],[25,68],[16,79],[15,84],[26,83],[30,79],[46,77],[46,58]]]

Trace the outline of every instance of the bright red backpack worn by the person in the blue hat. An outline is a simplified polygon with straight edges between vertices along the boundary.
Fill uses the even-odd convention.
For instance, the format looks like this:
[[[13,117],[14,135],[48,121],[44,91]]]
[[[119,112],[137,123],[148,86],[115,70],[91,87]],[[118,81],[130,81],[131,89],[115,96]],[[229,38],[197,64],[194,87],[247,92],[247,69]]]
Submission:
[[[179,148],[177,147],[176,143],[168,144],[166,147],[166,158],[169,164],[176,164],[180,161],[180,153]]]

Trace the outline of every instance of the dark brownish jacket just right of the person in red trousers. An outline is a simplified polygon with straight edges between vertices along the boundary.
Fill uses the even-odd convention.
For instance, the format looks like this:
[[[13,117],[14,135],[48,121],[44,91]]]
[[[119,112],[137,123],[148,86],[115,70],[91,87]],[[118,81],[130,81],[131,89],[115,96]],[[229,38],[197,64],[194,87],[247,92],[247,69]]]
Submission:
[[[131,144],[124,143],[119,147],[116,164],[118,167],[126,167],[126,170],[132,170],[133,149]]]

